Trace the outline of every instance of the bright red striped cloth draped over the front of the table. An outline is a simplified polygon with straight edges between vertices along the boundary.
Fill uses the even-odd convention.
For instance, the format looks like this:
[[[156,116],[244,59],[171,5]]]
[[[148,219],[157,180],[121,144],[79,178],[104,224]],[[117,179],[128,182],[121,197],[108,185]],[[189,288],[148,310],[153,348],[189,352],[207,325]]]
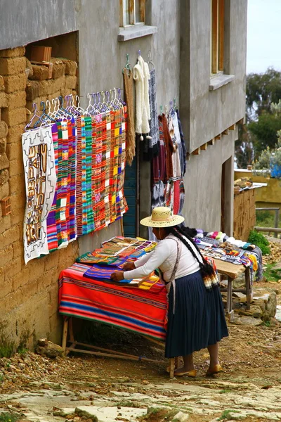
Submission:
[[[150,290],[91,280],[89,269],[74,264],[60,273],[58,310],[65,316],[90,319],[165,340],[166,289],[158,283]]]

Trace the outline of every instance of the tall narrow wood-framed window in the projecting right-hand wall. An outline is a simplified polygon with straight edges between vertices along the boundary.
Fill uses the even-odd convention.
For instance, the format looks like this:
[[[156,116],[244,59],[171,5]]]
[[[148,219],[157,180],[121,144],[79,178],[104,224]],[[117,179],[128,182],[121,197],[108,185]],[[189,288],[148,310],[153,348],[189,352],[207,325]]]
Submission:
[[[211,0],[211,73],[223,72],[224,1]]]

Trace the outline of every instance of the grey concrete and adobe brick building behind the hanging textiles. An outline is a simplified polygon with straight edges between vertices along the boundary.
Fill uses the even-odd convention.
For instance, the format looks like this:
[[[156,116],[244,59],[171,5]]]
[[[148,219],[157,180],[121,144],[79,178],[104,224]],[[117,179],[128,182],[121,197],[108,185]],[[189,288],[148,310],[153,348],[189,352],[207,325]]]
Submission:
[[[134,0],[130,4],[126,11],[124,0],[39,0],[36,7],[28,0],[2,1],[0,200],[11,197],[11,214],[0,219],[0,329],[11,333],[15,344],[25,341],[32,346],[34,338],[47,335],[60,343],[60,271],[77,255],[120,234],[115,222],[25,265],[21,135],[26,108],[32,107],[35,96],[51,99],[68,89],[77,91],[86,106],[87,93],[122,87],[126,54],[134,65],[139,50],[144,58],[151,51],[157,103],[169,106],[176,98],[183,122],[188,148],[186,222],[232,231],[234,141],[245,103],[247,1]],[[131,26],[120,29],[128,23]],[[48,84],[50,91],[30,93],[23,58],[34,43],[52,46],[55,57],[76,60],[77,76],[62,76],[67,83],[58,77],[52,86]],[[134,168],[132,201],[138,221],[150,212],[150,165],[138,162]]]

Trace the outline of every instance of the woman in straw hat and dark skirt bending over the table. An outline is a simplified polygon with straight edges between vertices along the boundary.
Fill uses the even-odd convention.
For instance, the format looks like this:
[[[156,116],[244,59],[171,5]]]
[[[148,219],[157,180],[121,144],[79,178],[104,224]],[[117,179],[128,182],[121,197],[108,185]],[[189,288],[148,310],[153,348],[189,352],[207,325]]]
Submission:
[[[183,220],[168,207],[155,207],[150,217],[141,220],[143,226],[153,227],[159,239],[155,250],[124,264],[124,271],[112,273],[112,279],[136,279],[159,268],[169,290],[165,357],[182,356],[183,367],[175,375],[195,377],[193,352],[207,347],[209,376],[223,370],[218,362],[218,342],[228,336],[228,328],[219,288],[207,290],[202,279],[209,264],[192,238],[178,227]]]

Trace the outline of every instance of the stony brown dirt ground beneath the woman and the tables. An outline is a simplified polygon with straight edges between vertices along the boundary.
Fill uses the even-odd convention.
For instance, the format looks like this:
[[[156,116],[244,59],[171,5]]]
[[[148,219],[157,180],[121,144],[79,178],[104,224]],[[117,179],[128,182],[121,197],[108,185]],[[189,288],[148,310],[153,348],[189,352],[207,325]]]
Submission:
[[[281,281],[255,286],[275,290],[281,304]],[[163,409],[152,409],[150,416],[122,416],[127,408],[145,409],[146,414],[155,403],[187,412],[186,418],[192,422],[281,420],[281,322],[271,320],[269,326],[228,323],[228,328],[229,337],[220,343],[222,373],[205,376],[209,355],[201,350],[195,352],[197,378],[170,379],[168,361],[159,345],[110,326],[89,324],[82,331],[78,325],[80,340],[134,354],[139,361],[74,353],[47,359],[27,351],[0,359],[0,422],[1,411],[15,412],[22,421],[96,421],[77,414],[78,405],[105,409],[105,415],[108,409],[118,409],[117,416],[99,417],[100,422],[172,421]],[[144,362],[141,357],[164,362]],[[77,408],[74,414],[61,413],[61,409],[72,407]]]

